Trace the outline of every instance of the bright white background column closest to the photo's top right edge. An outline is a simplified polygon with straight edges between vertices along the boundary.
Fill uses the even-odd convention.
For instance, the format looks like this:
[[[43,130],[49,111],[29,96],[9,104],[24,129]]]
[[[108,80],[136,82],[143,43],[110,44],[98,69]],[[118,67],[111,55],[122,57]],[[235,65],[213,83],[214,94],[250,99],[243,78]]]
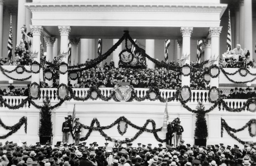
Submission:
[[[244,48],[250,51],[252,60],[252,0],[244,1],[244,9]]]

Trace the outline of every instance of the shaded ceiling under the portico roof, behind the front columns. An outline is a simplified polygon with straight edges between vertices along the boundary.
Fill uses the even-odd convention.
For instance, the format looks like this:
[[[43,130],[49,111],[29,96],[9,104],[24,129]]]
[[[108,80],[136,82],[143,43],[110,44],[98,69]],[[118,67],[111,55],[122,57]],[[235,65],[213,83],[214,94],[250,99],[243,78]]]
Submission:
[[[182,38],[181,27],[84,27],[71,26],[69,36],[89,39],[119,39],[124,31],[129,31],[135,39],[178,39]],[[57,26],[43,26],[44,35],[60,38]],[[192,39],[202,39],[208,36],[208,28],[194,27]]]

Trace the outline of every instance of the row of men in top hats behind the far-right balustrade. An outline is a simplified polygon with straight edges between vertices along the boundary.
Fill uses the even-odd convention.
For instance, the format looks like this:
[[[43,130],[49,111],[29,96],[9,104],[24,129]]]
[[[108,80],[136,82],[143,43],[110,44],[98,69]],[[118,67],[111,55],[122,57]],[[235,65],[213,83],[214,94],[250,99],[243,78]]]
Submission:
[[[249,98],[256,97],[256,87],[254,87],[254,89],[252,89],[252,88],[246,88],[246,89],[239,88],[239,90],[236,87],[235,92],[234,92],[234,89],[230,89],[230,94],[228,96],[226,96],[225,94],[222,94],[222,91],[220,91],[220,95],[224,99],[249,99]]]

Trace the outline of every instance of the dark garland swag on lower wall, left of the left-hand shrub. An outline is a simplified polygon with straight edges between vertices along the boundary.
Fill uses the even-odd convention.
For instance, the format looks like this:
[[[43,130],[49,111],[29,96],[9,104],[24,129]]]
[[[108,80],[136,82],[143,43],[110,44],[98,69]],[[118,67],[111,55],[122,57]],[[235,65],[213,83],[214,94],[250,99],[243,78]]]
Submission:
[[[25,133],[27,133],[27,117],[26,116],[23,116],[22,118],[20,118],[19,122],[13,126],[6,126],[0,118],[0,126],[4,127],[4,129],[6,129],[6,130],[11,130],[9,133],[0,136],[0,139],[5,139],[5,138],[9,137],[10,135],[16,133],[21,128],[21,126],[23,124],[25,124]]]

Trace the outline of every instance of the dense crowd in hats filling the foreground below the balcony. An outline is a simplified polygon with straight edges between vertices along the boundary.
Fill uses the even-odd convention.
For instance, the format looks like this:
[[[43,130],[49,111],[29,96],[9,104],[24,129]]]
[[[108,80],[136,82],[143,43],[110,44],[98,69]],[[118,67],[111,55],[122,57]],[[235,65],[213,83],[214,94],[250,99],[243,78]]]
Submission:
[[[256,145],[239,146],[223,144],[197,146],[173,144],[137,147],[127,143],[126,148],[112,148],[109,143],[99,146],[96,142],[86,146],[74,144],[27,146],[26,142],[0,143],[2,166],[256,166]],[[108,149],[108,151],[106,151]],[[110,151],[109,151],[110,149]]]

